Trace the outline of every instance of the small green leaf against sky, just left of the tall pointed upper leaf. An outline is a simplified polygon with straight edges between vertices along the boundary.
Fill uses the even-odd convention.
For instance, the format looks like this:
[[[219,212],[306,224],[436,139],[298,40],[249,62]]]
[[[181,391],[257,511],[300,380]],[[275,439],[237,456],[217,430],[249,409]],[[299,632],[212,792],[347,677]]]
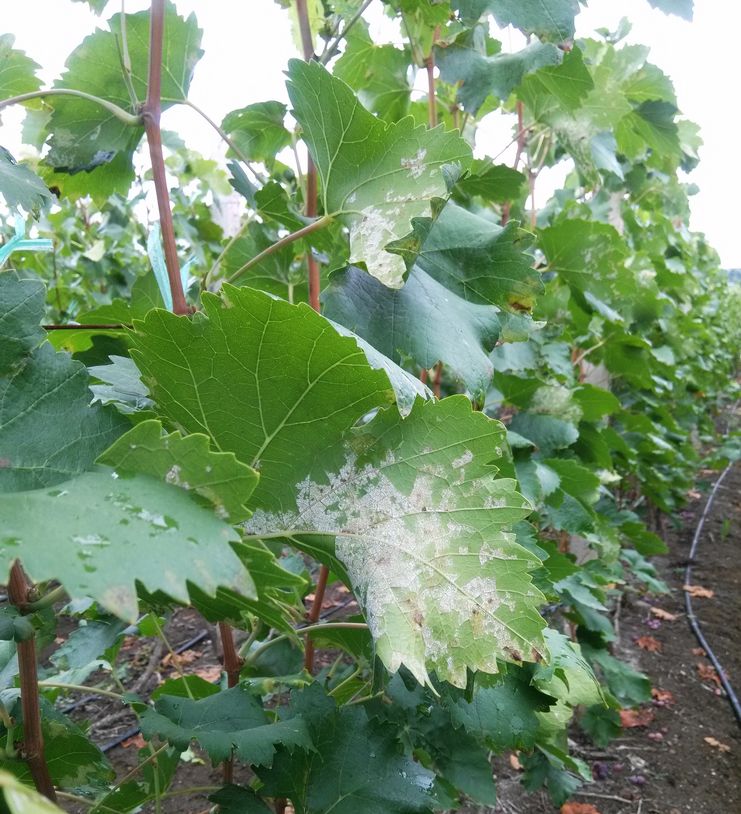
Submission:
[[[221,129],[250,161],[272,163],[277,153],[291,143],[281,102],[257,102],[224,117]]]

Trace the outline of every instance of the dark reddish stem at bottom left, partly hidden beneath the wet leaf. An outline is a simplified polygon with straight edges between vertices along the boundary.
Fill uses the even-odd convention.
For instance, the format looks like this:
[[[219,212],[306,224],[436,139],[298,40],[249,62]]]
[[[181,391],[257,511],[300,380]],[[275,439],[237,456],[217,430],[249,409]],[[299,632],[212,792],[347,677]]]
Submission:
[[[10,569],[8,599],[23,613],[28,607],[31,585],[21,564],[16,560]],[[44,736],[41,732],[41,706],[36,663],[36,637],[18,642],[18,674],[21,685],[23,711],[23,757],[28,764],[34,785],[40,794],[56,802],[57,795],[51,782],[49,767],[44,758]]]

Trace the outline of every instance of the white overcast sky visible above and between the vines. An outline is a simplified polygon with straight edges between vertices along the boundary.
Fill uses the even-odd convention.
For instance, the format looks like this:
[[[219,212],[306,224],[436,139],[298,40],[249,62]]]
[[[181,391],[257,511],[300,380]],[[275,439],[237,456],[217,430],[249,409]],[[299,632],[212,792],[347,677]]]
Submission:
[[[212,118],[220,120],[251,102],[287,101],[282,71],[297,55],[296,46],[288,14],[274,0],[176,0],[176,5],[181,13],[194,11],[204,29],[205,54],[191,98]],[[146,0],[126,0],[127,11],[147,6]],[[380,0],[371,6],[374,19],[380,7]],[[107,15],[119,9],[119,0],[111,0]],[[702,128],[702,160],[689,176],[700,188],[692,199],[692,227],[706,233],[725,266],[741,267],[741,3],[695,0],[695,19],[688,23],[652,9],[647,0],[589,0],[577,18],[577,36],[589,36],[601,26],[614,29],[623,16],[633,23],[628,42],[650,46],[649,58],[673,79],[683,113]],[[46,82],[59,75],[69,52],[97,24],[100,20],[84,3],[0,0],[0,33],[15,34],[16,47],[43,66]],[[387,27],[380,30],[393,35]],[[3,112],[0,143],[22,155],[20,121],[18,113]],[[192,111],[168,112],[163,125],[206,155],[221,149],[218,137]],[[486,129],[481,151],[496,154],[508,140],[505,132]],[[503,141],[488,143],[495,136]]]

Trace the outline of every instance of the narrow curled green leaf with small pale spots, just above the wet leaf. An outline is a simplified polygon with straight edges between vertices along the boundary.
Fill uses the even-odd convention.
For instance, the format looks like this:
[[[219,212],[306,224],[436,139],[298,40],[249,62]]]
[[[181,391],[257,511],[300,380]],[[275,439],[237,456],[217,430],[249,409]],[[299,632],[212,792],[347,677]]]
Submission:
[[[155,420],[142,421],[122,435],[98,462],[119,474],[141,472],[192,489],[232,524],[249,517],[244,504],[258,480],[257,472],[238,461],[234,453],[212,450],[208,436],[164,433]]]

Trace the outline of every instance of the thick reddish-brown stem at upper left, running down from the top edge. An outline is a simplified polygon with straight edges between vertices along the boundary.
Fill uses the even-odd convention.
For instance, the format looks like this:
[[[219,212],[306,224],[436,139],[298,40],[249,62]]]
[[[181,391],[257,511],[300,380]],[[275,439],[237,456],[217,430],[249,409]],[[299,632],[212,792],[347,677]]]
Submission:
[[[165,266],[172,293],[172,310],[176,314],[189,313],[185,301],[183,283],[180,277],[175,227],[172,223],[170,194],[167,188],[165,158],[162,153],[162,132],[160,116],[162,113],[162,41],[165,32],[165,0],[152,0],[149,28],[149,81],[147,84],[147,101],[142,108],[144,131],[147,134],[149,156],[152,161],[154,189],[157,193],[157,208],[160,214],[162,245],[165,250]]]

